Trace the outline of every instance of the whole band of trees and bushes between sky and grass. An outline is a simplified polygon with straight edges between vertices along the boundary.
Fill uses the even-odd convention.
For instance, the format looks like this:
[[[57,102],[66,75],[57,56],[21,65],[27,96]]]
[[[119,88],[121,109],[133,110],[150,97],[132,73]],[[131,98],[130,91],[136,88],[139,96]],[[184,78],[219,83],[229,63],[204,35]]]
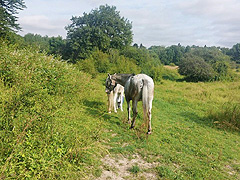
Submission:
[[[10,2],[15,6],[10,6]],[[115,6],[109,5],[72,17],[72,23],[65,27],[66,39],[30,33],[21,37],[14,32],[19,29],[16,17],[5,18],[4,15],[13,15],[17,10],[22,10],[25,7],[23,1],[1,3],[1,37],[17,42],[21,47],[31,46],[61,56],[93,76],[106,72],[146,73],[160,80],[163,65],[177,65],[179,73],[189,81],[231,80],[231,69],[238,68],[240,64],[240,43],[232,48],[185,47],[180,43],[150,48],[136,43],[131,45],[132,23],[121,17]],[[15,7],[15,10],[9,11],[8,7]],[[14,24],[12,22],[7,24],[7,19],[12,19],[15,25],[11,25]]]

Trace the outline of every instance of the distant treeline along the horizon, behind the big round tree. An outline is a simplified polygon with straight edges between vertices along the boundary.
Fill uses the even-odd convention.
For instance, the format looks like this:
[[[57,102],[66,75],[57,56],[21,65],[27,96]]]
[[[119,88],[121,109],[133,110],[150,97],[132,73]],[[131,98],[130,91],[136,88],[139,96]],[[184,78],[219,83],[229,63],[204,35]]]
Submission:
[[[86,57],[75,59],[71,56],[72,49],[70,48],[68,39],[63,39],[61,36],[58,37],[48,37],[48,36],[41,36],[39,34],[31,34],[28,33],[23,36],[22,43],[24,45],[31,45],[33,47],[39,48],[41,51],[45,51],[48,54],[52,55],[60,55],[64,60],[69,60],[71,62],[76,62]],[[96,49],[97,47],[95,47]],[[161,64],[163,65],[170,65],[171,63],[175,65],[179,65],[179,62],[182,58],[188,54],[195,52],[195,55],[202,56],[206,61],[209,61],[210,58],[214,58],[214,56],[228,56],[229,60],[232,63],[240,64],[240,43],[235,44],[232,48],[226,47],[216,47],[211,46],[204,47],[192,45],[192,46],[182,46],[180,43],[178,45],[171,45],[168,47],[165,46],[151,46],[150,48],[144,47],[142,44],[133,44],[132,46],[128,46],[126,48],[130,49],[145,49],[153,58],[159,59]],[[125,49],[123,51],[126,51]],[[145,52],[146,52],[145,51]],[[136,53],[136,52],[135,52]],[[141,53],[140,53],[141,54]],[[129,54],[125,54],[129,55]],[[225,56],[225,58],[227,58]],[[134,57],[136,58],[136,57]]]

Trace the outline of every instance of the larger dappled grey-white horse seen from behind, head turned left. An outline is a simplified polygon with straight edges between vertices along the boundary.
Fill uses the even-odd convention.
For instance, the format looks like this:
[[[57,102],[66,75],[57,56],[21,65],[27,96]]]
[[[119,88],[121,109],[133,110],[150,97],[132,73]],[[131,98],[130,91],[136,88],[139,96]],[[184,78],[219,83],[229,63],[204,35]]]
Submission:
[[[151,77],[146,74],[108,74],[106,80],[106,88],[112,88],[115,84],[121,84],[124,86],[125,98],[127,101],[128,110],[128,122],[131,123],[130,117],[130,100],[132,100],[133,120],[131,128],[135,126],[135,120],[137,117],[137,103],[142,101],[144,118],[148,121],[148,132],[151,134],[151,110],[154,94],[154,82]]]

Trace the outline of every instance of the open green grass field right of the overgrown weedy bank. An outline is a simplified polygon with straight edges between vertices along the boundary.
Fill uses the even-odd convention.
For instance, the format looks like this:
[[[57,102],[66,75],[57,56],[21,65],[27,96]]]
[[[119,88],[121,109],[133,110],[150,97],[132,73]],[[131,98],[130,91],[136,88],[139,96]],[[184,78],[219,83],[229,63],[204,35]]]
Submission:
[[[239,89],[239,82],[156,84],[153,134],[145,135],[141,103],[135,130],[126,110],[111,114],[105,119],[109,152],[157,162],[152,171],[160,179],[239,179],[239,129],[211,118],[226,102],[240,102]]]

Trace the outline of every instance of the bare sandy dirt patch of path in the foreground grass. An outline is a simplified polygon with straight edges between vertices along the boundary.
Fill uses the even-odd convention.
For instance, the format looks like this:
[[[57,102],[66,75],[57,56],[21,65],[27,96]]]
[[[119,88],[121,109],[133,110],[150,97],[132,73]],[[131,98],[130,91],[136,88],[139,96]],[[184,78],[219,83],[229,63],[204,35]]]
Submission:
[[[107,155],[102,162],[102,175],[97,180],[157,179],[154,172],[157,163],[148,163],[138,154],[129,158]]]

